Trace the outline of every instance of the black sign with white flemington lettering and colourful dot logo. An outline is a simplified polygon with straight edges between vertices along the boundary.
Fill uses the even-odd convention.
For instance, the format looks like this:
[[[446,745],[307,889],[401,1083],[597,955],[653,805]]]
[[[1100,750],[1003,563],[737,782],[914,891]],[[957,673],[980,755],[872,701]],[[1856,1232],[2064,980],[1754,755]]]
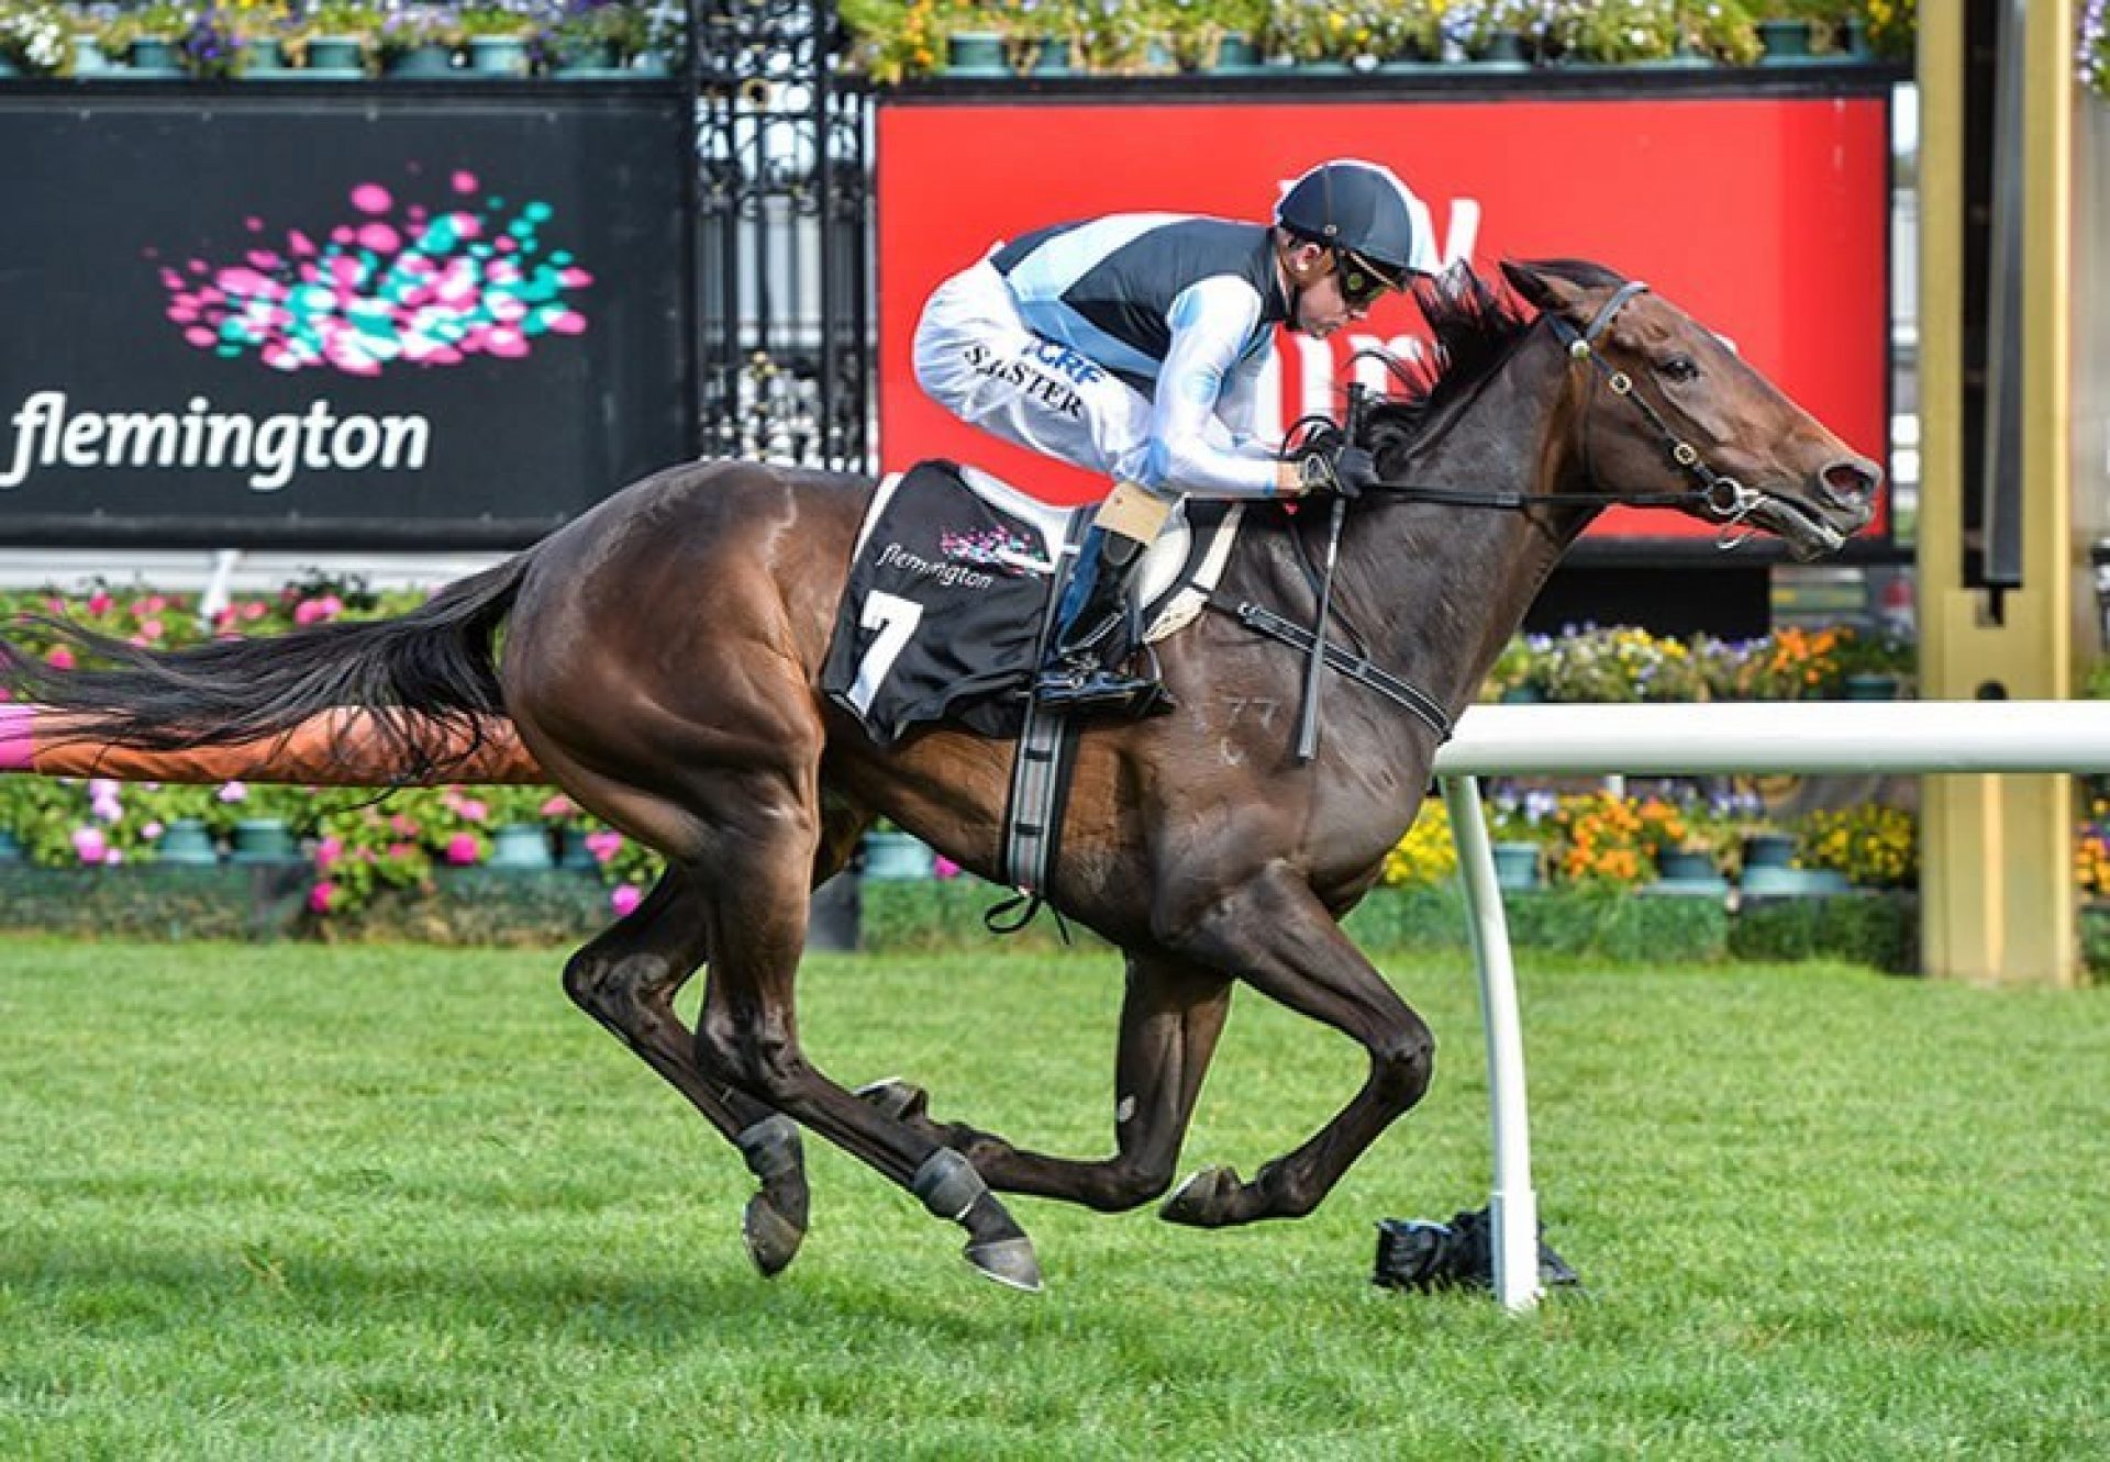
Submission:
[[[0,97],[0,542],[511,546],[692,456],[679,116]]]

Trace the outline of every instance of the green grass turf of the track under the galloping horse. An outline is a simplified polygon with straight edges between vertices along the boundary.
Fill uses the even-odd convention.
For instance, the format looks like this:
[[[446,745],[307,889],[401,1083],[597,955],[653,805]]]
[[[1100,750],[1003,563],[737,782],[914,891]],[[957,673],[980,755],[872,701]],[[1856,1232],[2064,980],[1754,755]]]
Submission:
[[[2102,1458],[2110,994],[1523,970],[1538,1188],[1587,1295],[1367,1283],[1488,1188],[1462,964],[1437,1084],[1310,1219],[1015,1200],[1049,1293],[810,1148],[757,1278],[738,1160],[555,954],[0,943],[0,1458]],[[806,1036],[1097,1152],[1112,960],[814,960]],[[1243,994],[1184,1167],[1359,1076]]]

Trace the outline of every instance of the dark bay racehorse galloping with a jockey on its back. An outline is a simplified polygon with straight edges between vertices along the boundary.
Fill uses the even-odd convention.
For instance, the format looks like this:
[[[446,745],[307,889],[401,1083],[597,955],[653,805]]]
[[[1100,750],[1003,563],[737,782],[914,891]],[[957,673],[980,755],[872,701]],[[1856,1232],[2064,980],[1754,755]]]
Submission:
[[[1469,270],[1422,285],[1439,365],[1367,418],[1384,477],[1420,489],[1350,504],[1331,595],[1334,635],[1452,717],[1608,494],[1764,527],[1812,557],[1867,523],[1880,485],[1872,462],[1669,302],[1591,264],[1504,272],[1536,314]],[[745,1236],[764,1272],[806,1232],[806,1127],[958,1221],[979,1270],[1038,1287],[996,1194],[1108,1211],[1163,1196],[1241,981],[1361,1044],[1369,1070],[1302,1148],[1249,1181],[1198,1173],[1163,1217],[1213,1228],[1308,1213],[1428,1086],[1428,1027],[1338,920],[1414,821],[1437,732],[1334,681],[1321,751],[1300,762],[1304,656],[1205,614],[1163,646],[1177,715],[1082,736],[1047,890],[1127,958],[1112,1156],[1044,1156],[933,1120],[901,1082],[846,1091],[800,1046],[810,888],[880,814],[994,873],[1013,759],[1011,743],[952,730],[882,751],[821,696],[871,489],[688,464],[399,620],[165,656],[89,643],[120,660],[103,671],[55,673],[17,652],[6,677],[82,713],[82,734],[141,749],[378,707],[405,781],[445,774],[464,726],[511,717],[557,785],[667,857],[660,884],[563,981],[745,1154],[760,1179]],[[1504,494],[1532,502],[1477,511]],[[1220,597],[1308,624],[1304,563],[1327,527],[1315,506],[1260,515]],[[703,966],[692,1032],[673,998]]]

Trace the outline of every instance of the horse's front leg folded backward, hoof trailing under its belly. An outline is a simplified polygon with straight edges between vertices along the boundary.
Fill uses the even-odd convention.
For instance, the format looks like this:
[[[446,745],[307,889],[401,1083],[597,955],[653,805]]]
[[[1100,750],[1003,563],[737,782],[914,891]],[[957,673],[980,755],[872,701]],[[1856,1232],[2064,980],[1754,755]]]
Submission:
[[[935,1122],[924,1093],[905,1082],[878,1082],[859,1095],[966,1156],[990,1188],[1120,1213],[1173,1184],[1230,989],[1228,977],[1169,954],[1129,954],[1114,1057],[1114,1156],[1097,1162],[1025,1152],[962,1122]]]

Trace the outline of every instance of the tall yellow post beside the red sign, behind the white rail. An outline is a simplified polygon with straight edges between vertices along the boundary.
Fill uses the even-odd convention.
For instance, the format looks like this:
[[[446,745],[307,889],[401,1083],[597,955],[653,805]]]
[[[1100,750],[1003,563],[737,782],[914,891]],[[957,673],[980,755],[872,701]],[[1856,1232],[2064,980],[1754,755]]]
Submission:
[[[2023,586],[2000,618],[1962,584],[1964,6],[1920,6],[1920,688],[1929,698],[2066,698],[2085,536],[2072,511],[2072,0],[2026,8],[2021,437]],[[1929,776],[1922,789],[1929,975],[2078,977],[2070,776]]]

